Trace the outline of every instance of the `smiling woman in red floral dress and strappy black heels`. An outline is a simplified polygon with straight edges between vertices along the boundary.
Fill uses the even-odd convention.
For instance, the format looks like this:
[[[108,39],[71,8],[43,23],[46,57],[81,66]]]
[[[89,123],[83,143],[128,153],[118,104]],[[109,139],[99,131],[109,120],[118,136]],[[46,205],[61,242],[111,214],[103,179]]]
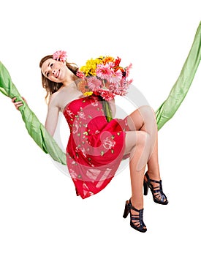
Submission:
[[[131,227],[144,233],[143,187],[144,195],[151,189],[154,202],[168,203],[159,173],[153,110],[143,106],[124,120],[113,118],[108,122],[102,98],[94,94],[85,97],[79,90],[77,67],[53,56],[45,56],[39,64],[42,86],[49,97],[45,128],[53,136],[58,113],[64,113],[70,129],[67,166],[77,195],[86,198],[100,192],[115,175],[121,160],[129,156],[132,196],[126,201],[123,217],[130,214]],[[12,102],[18,109],[23,104],[15,99]],[[114,117],[115,100],[110,100],[109,105]]]

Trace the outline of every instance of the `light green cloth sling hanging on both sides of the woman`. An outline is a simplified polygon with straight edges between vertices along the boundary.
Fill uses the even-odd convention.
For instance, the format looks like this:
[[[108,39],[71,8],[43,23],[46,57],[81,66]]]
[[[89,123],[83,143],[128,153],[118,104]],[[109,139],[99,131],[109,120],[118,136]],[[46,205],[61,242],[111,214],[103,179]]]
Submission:
[[[194,42],[191,46],[189,56],[187,57],[181,73],[176,81],[175,85],[172,87],[169,96],[162,103],[158,110],[156,110],[156,122],[158,129],[172,118],[176,110],[178,110],[181,102],[186,97],[187,92],[191,86],[192,80],[194,79],[197,67],[200,64],[200,43],[201,43],[201,22],[198,26],[197,33],[194,37]],[[22,97],[16,89],[15,85],[12,83],[10,74],[4,65],[0,61],[0,91],[11,99],[16,97],[17,101],[22,101]],[[37,116],[31,111],[26,102],[23,102],[23,106],[19,108],[22,115],[23,121],[26,124],[26,129],[31,135],[31,138],[37,143],[37,145],[42,148],[45,153],[50,154],[50,156],[60,162],[63,165],[67,165],[66,154],[61,150],[56,141],[50,136],[45,127],[39,122]]]

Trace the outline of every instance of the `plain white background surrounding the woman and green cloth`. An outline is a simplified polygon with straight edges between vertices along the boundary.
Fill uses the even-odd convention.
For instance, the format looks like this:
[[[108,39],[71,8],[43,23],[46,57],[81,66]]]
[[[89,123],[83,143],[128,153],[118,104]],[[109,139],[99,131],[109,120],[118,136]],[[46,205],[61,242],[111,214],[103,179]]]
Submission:
[[[0,60],[42,123],[47,106],[39,60],[56,50],[67,50],[78,65],[99,55],[132,62],[134,86],[157,109],[181,72],[200,7],[195,0],[7,0],[1,3]],[[199,68],[178,112],[159,131],[159,164],[170,203],[157,205],[148,193],[144,234],[122,218],[131,193],[129,168],[82,200],[1,94],[0,255],[198,255],[200,83]]]

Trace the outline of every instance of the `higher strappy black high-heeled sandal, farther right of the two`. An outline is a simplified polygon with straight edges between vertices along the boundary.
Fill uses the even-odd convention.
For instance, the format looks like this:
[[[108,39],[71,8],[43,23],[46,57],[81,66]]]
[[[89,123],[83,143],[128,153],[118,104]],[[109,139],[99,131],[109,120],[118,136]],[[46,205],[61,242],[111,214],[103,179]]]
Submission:
[[[167,205],[167,197],[164,195],[164,192],[162,191],[162,181],[155,181],[151,178],[149,178],[148,173],[145,173],[145,177],[147,178],[147,181],[144,179],[144,195],[148,194],[148,188],[151,189],[151,193],[153,195],[153,201],[155,203],[160,203],[162,205]],[[159,184],[157,187],[153,187],[153,184],[151,182]]]

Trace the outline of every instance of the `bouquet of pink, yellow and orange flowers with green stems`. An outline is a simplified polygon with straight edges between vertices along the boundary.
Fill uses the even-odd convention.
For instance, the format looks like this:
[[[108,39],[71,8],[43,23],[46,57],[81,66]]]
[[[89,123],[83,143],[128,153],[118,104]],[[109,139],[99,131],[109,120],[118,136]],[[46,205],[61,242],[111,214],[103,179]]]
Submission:
[[[112,119],[108,101],[115,95],[124,96],[127,93],[132,79],[129,79],[128,67],[120,66],[121,59],[112,56],[100,56],[96,59],[89,59],[86,65],[77,70],[77,77],[80,78],[79,89],[84,95],[96,94],[102,97],[103,107],[107,121]]]

